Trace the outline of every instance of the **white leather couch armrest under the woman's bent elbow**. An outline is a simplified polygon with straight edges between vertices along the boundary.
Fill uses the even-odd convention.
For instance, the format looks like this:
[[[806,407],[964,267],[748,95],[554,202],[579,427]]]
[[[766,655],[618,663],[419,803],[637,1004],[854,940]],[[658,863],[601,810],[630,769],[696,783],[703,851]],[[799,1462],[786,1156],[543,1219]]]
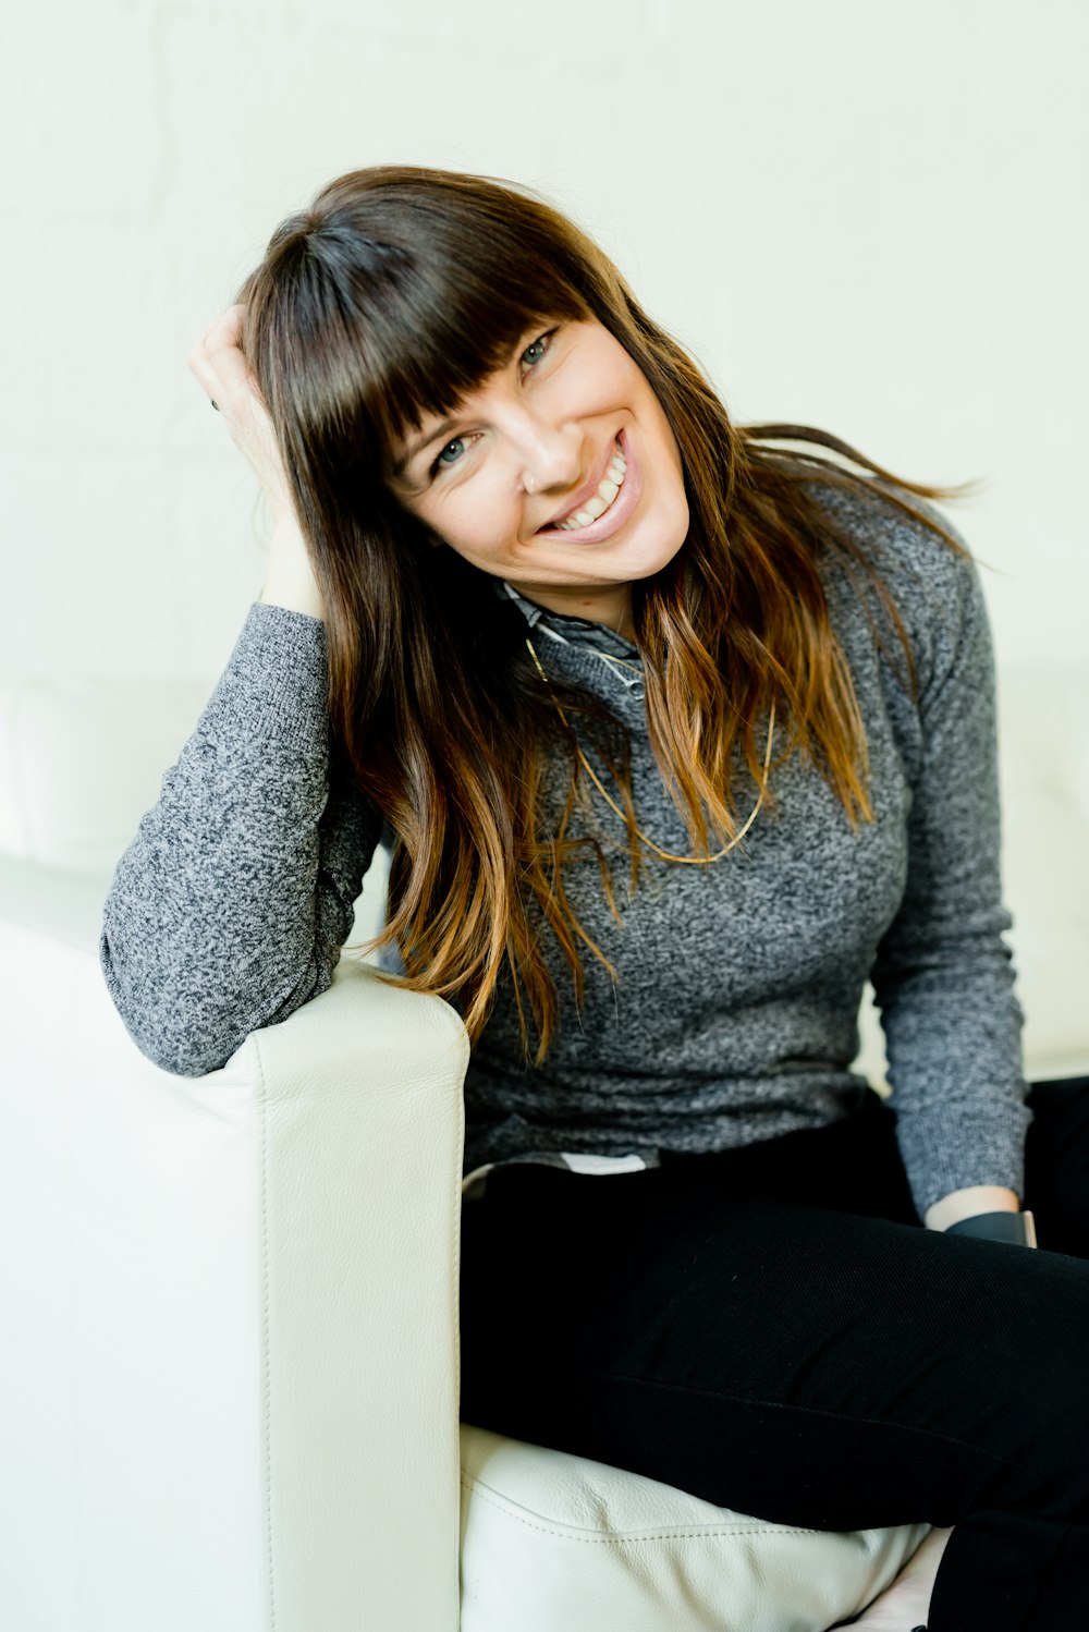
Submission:
[[[93,881],[8,865],[5,1619],[453,1632],[461,1022],[344,960],[170,1075],[86,943]]]

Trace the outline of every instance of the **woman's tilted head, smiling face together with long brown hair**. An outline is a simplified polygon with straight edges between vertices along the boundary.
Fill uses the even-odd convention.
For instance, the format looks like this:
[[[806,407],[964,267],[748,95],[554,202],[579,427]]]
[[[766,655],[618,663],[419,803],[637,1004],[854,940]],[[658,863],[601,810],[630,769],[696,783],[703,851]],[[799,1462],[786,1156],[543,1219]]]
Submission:
[[[572,829],[585,764],[572,720],[618,788],[633,881],[644,845],[626,723],[574,674],[541,685],[494,589],[631,638],[649,744],[691,854],[708,855],[735,837],[738,793],[752,808],[763,788],[773,707],[779,761],[812,756],[848,818],[869,814],[822,553],[869,579],[910,684],[875,552],[813,478],[955,552],[911,504],[949,490],[897,481],[820,431],[734,426],[592,240],[478,176],[341,176],[280,225],[238,299],[321,586],[334,739],[398,836],[381,945],[406,984],[456,994],[473,1040],[505,971],[540,1066],[558,1002],[538,916],[577,1000],[582,948],[615,968],[562,881],[564,863],[595,855],[613,899],[597,834]],[[769,446],[783,437],[809,449]],[[615,514],[582,526],[616,450]],[[518,1015],[528,1056],[522,1002]]]

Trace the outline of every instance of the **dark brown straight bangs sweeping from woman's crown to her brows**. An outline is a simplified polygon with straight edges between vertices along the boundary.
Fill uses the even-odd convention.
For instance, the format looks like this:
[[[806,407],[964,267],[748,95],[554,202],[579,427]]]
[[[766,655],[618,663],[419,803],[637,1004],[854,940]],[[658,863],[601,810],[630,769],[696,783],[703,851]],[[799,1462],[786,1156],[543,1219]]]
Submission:
[[[293,406],[326,452],[351,442],[359,460],[367,447],[380,480],[408,436],[504,367],[530,328],[592,315],[577,235],[517,194],[489,207],[486,194],[422,196],[406,181],[324,202],[324,220],[292,245],[282,315],[297,387],[310,385],[292,390]]]

